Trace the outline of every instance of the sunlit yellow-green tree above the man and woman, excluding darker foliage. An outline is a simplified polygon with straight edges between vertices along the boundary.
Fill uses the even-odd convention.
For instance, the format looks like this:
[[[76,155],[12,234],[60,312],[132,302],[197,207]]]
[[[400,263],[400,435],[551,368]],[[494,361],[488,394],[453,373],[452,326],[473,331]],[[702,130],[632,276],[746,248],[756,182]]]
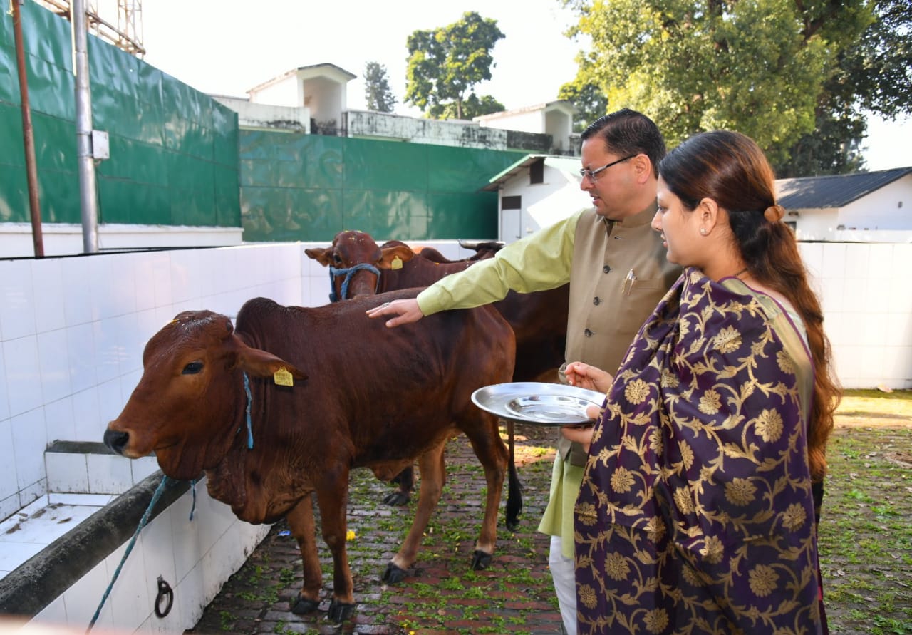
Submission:
[[[834,130],[853,130],[827,103],[826,86],[874,23],[870,0],[569,4],[580,16],[572,33],[592,39],[576,81],[601,88],[612,107],[647,113],[669,146],[728,128],[753,137],[780,164],[828,115]]]

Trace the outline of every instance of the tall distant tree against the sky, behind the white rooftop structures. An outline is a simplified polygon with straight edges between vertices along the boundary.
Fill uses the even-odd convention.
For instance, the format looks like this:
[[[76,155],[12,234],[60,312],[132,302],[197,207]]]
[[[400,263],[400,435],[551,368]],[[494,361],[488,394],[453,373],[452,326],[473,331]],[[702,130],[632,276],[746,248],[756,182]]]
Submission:
[[[405,101],[438,119],[467,119],[470,93],[476,108],[496,103],[490,96],[476,97],[472,88],[491,78],[491,51],[502,38],[496,20],[473,11],[449,26],[415,31],[407,41]]]

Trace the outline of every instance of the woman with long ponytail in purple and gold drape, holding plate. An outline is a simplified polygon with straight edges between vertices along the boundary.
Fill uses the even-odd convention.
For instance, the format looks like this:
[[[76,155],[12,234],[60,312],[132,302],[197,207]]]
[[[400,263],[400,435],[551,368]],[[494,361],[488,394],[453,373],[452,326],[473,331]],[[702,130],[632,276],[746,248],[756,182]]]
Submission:
[[[718,130],[658,171],[652,226],[684,273],[616,378],[567,369],[608,390],[575,505],[579,632],[826,632],[815,514],[838,390],[772,169]]]

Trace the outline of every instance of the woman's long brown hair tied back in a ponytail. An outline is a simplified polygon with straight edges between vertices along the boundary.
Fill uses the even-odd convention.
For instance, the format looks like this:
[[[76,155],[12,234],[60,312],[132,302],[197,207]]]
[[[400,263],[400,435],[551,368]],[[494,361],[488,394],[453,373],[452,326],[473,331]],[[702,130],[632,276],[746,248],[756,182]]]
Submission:
[[[807,331],[814,359],[814,397],[808,458],[814,481],[826,473],[826,441],[841,390],[833,377],[830,342],[820,301],[808,284],[792,229],[782,223],[773,172],[760,147],[740,132],[701,132],[658,164],[658,172],[690,211],[710,198],[729,214],[735,243],[751,276],[788,298]]]

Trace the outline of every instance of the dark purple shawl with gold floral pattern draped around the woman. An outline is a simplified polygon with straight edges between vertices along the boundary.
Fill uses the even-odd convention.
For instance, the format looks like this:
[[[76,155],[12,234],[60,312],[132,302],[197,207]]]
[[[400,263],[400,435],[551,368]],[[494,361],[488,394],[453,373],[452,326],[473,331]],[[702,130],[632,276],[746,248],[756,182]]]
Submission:
[[[811,384],[778,304],[685,270],[627,351],[589,450],[580,633],[823,630]]]

